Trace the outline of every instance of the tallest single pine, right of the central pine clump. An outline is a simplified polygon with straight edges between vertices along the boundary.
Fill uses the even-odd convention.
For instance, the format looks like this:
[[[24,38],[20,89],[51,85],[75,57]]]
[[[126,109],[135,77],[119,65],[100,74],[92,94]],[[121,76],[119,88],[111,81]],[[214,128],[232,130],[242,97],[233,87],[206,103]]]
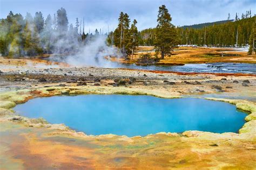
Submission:
[[[171,24],[172,18],[165,5],[159,7],[156,30],[156,52],[161,53],[161,59],[171,55],[173,48],[178,45],[177,32]]]

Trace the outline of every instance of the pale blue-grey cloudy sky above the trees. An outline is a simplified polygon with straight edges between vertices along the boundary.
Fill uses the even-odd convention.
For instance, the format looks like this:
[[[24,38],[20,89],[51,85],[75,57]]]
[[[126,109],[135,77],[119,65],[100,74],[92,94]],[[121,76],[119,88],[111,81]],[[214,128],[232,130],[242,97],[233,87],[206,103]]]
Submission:
[[[192,25],[217,20],[231,19],[235,12],[245,13],[252,10],[256,13],[256,0],[0,0],[0,18],[6,18],[9,11],[26,12],[35,15],[41,11],[44,18],[53,15],[63,7],[68,13],[69,23],[74,24],[76,17],[85,18],[85,32],[94,32],[96,28],[107,31],[117,26],[120,11],[128,13],[131,20],[137,19],[138,29],[146,29],[157,25],[158,6],[165,4],[172,16],[174,25]]]

